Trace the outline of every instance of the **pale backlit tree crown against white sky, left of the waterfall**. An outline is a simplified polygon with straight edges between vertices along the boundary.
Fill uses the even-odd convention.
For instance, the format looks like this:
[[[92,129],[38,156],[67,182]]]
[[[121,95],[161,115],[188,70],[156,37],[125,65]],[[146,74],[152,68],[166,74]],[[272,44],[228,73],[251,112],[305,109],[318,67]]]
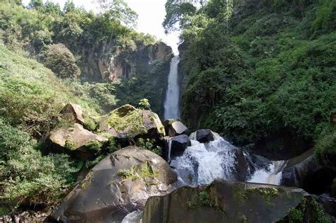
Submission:
[[[108,13],[111,20],[120,21],[128,27],[135,27],[138,14],[135,13],[124,0],[96,0],[101,13]]]

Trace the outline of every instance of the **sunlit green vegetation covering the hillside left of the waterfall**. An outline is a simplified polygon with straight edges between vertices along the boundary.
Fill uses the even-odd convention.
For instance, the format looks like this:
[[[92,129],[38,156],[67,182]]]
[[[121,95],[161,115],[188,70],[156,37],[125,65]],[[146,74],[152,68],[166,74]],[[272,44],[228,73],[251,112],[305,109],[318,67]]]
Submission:
[[[123,1],[104,8],[0,2],[0,215],[54,205],[72,188],[82,161],[50,154],[44,143],[68,124],[60,115],[66,103],[82,105],[87,129],[96,127],[89,117],[142,98],[162,112],[169,59],[127,79],[102,79],[91,55],[128,62],[158,42],[133,30],[137,15]]]

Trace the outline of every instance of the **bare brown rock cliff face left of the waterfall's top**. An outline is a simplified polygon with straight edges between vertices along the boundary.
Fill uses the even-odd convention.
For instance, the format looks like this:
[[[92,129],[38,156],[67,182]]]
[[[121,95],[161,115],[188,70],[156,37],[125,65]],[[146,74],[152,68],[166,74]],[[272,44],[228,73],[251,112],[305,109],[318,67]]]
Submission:
[[[111,52],[113,45],[106,44],[98,52],[94,49],[83,53],[87,63],[82,65],[86,79],[102,79],[114,81],[116,79],[129,79],[140,73],[150,71],[153,62],[167,62],[172,57],[172,48],[157,42],[155,45],[142,45],[138,43],[136,50],[116,50]]]

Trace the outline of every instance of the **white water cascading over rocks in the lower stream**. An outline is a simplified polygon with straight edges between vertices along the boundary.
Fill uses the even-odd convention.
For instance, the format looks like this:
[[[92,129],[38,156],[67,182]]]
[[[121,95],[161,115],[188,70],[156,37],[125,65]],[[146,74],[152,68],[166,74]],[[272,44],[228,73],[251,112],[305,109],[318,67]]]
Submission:
[[[204,144],[193,140],[196,134],[191,134],[191,147],[186,148],[182,156],[172,159],[171,166],[178,173],[179,183],[204,185],[211,183],[215,178],[235,181],[238,169],[247,168],[250,175],[245,178],[245,181],[280,184],[281,173],[286,166],[285,161],[271,161],[268,166],[264,167],[258,167],[254,164],[249,164],[251,168],[239,166],[237,155],[240,156],[240,159],[250,161],[250,154],[246,151],[239,153],[240,150],[237,147],[225,141],[215,132],[213,134],[215,140]]]

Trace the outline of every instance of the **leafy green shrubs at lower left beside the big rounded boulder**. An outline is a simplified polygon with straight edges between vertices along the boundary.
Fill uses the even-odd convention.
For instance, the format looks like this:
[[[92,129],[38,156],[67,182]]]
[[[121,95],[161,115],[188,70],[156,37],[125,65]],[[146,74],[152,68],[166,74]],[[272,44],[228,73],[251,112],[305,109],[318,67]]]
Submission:
[[[65,154],[42,156],[30,137],[0,119],[0,197],[11,208],[54,204],[74,183],[74,162]]]

